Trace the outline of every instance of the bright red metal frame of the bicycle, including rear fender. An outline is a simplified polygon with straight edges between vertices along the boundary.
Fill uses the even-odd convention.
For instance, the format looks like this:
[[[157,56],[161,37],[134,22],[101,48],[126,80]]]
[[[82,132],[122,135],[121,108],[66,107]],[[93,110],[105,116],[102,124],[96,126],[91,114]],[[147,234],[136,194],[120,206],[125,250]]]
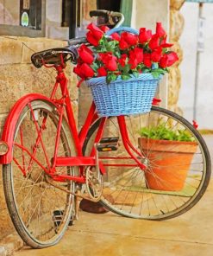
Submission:
[[[33,151],[33,153],[28,152],[26,149],[24,149],[24,147],[22,147],[22,145],[19,145],[19,147],[22,150],[25,150],[30,155],[31,159],[33,159],[35,162],[37,162],[41,166],[41,168],[45,172],[47,172],[48,175],[53,177],[54,180],[63,182],[68,179],[68,180],[72,180],[75,182],[85,182],[85,175],[84,175],[83,167],[97,165],[95,146],[93,146],[93,148],[91,150],[90,157],[83,156],[83,145],[85,143],[86,135],[87,135],[91,125],[98,119],[97,112],[96,112],[96,106],[95,106],[94,102],[91,103],[90,110],[85,119],[85,125],[83,125],[82,129],[78,133],[78,129],[77,129],[75,119],[74,119],[74,114],[72,111],[71,99],[70,99],[68,89],[67,89],[68,80],[64,73],[65,65],[62,62],[60,66],[53,66],[53,67],[55,67],[55,69],[57,71],[57,77],[56,77],[56,82],[53,86],[53,92],[52,92],[50,98],[44,97],[40,94],[28,94],[25,97],[23,97],[22,99],[20,99],[16,103],[16,106],[14,106],[12,111],[9,113],[9,117],[7,118],[6,124],[3,129],[3,138],[2,138],[3,142],[8,144],[9,151],[4,156],[0,157],[0,163],[6,164],[6,163],[10,163],[12,161],[13,138],[14,138],[15,128],[16,128],[15,124],[16,124],[17,118],[19,116],[19,113],[22,112],[23,107],[26,106],[26,103],[28,102],[29,109],[32,112],[32,116],[34,118],[34,112],[30,105],[30,100],[31,99],[45,99],[47,101],[52,102],[53,105],[56,106],[57,112],[59,113],[59,125],[57,127],[57,135],[55,138],[53,159],[52,159],[51,164],[47,163],[47,165],[49,165],[48,167],[49,167],[50,171],[47,170],[46,168],[44,168],[41,165],[41,163],[38,163],[38,161],[35,159],[34,155],[36,153],[36,147],[35,147],[35,150]],[[60,86],[60,91],[61,91],[62,97],[60,99],[55,99],[54,98],[55,93],[57,92],[59,86]],[[66,111],[66,116],[65,116],[65,111]],[[66,121],[67,121],[67,123],[69,125],[69,129],[72,133],[73,142],[75,144],[75,148],[77,151],[77,157],[60,157],[60,156],[58,156],[58,146],[59,146],[59,141],[60,141],[60,129],[61,129],[61,125],[62,125],[62,119],[65,117],[67,117]],[[133,159],[135,161],[135,163],[122,164],[122,165],[117,163],[117,164],[113,164],[113,166],[139,166],[141,168],[141,170],[146,169],[146,165],[141,163],[141,161],[139,161],[139,159],[138,159],[138,158],[143,158],[143,156],[141,155],[141,152],[136,150],[135,147],[130,143],[124,116],[117,117],[117,119],[118,119],[118,125],[119,125],[121,135],[122,135],[122,142],[123,142],[124,147],[127,150],[128,155],[129,155],[129,157],[125,157],[125,158]],[[97,129],[97,135],[96,135],[96,138],[94,141],[94,145],[97,144],[103,136],[103,128],[106,123],[106,120],[107,120],[107,118],[101,119],[100,125]],[[45,125],[45,122],[46,121],[44,120],[42,125]],[[41,139],[42,131],[39,130],[39,127],[36,127],[36,130],[38,132],[38,138],[36,140],[36,144],[41,143],[41,145],[42,145],[43,144],[42,139]],[[43,147],[43,145],[42,145],[42,147]],[[44,154],[46,156],[44,147],[43,147],[43,150],[44,150]],[[46,159],[47,159],[47,157],[46,157]],[[108,159],[109,159],[109,157],[108,157]],[[116,159],[123,159],[123,157],[116,157]],[[102,159],[100,159],[98,161],[99,168],[100,168],[101,172],[104,174],[105,173],[104,165],[101,160]],[[64,176],[64,175],[56,176],[55,168],[60,167],[60,166],[79,166],[80,167],[80,169],[79,169],[80,175],[79,176]],[[105,166],[110,166],[110,164],[105,164]],[[21,167],[20,167],[20,169],[22,170]],[[22,170],[22,173],[23,173],[23,175],[26,175],[26,170]]]

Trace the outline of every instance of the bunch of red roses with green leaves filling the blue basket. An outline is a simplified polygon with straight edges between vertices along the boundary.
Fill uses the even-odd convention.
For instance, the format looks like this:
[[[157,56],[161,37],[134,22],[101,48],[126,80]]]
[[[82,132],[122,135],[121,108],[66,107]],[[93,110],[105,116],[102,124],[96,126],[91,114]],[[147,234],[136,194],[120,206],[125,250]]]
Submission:
[[[93,23],[87,29],[86,38],[91,47],[82,44],[78,48],[78,64],[73,70],[81,80],[105,76],[110,83],[118,76],[128,80],[141,73],[159,78],[168,72],[167,67],[179,60],[169,49],[172,44],[166,42],[166,31],[160,22],[156,23],[155,34],[141,28],[139,35],[127,31],[107,35],[108,27],[98,28]]]

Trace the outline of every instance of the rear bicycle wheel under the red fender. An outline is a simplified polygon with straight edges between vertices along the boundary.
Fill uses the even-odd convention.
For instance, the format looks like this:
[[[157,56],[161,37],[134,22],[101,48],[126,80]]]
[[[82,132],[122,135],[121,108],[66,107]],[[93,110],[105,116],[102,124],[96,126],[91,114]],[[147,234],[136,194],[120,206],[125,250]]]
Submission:
[[[55,189],[43,168],[50,170],[59,116],[51,103],[34,100],[22,110],[16,123],[13,161],[3,165],[3,187],[9,215],[28,246],[53,246],[69,224],[73,196]],[[75,155],[72,138],[63,120],[58,156]],[[72,175],[70,167],[57,174]],[[57,182],[74,192],[74,182]]]

